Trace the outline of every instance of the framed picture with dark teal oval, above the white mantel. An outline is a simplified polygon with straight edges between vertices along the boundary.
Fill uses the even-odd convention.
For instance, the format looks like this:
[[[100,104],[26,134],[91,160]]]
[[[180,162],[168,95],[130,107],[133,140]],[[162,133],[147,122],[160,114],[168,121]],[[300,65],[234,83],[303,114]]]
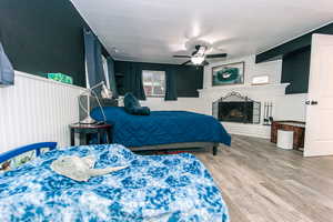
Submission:
[[[245,62],[221,64],[212,68],[212,85],[244,84]]]

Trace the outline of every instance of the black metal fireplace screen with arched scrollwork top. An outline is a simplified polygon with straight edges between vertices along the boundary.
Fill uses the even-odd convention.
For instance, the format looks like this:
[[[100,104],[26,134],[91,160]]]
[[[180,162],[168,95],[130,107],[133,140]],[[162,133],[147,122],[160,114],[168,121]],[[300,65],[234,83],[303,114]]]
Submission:
[[[224,122],[260,123],[261,103],[238,92],[213,102],[213,115]]]

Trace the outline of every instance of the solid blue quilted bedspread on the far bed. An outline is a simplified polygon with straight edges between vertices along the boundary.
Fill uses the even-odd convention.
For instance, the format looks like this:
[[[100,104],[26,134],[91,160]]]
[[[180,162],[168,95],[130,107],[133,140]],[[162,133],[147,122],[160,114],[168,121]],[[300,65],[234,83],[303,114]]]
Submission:
[[[231,137],[213,117],[185,111],[153,111],[150,115],[132,115],[123,108],[103,108],[109,123],[114,124],[113,142],[128,148],[144,145],[216,142],[230,145]],[[102,121],[100,109],[91,115]]]

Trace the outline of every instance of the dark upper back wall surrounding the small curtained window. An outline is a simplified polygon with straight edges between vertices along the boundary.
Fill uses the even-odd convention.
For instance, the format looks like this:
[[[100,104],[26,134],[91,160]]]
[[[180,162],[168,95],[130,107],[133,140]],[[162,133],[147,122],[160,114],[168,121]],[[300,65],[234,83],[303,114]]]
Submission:
[[[124,79],[127,70],[131,63],[140,65],[141,70],[161,70],[167,71],[172,69],[175,74],[178,97],[199,97],[198,89],[203,85],[203,68],[194,65],[179,65],[179,64],[161,64],[161,63],[143,63],[143,62],[128,62],[115,61],[114,72],[119,93],[123,95],[128,92]]]

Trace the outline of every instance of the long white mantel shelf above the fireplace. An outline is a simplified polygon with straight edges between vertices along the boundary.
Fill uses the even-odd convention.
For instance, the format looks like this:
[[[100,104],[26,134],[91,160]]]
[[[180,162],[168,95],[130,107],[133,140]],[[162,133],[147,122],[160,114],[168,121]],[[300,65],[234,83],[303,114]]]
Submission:
[[[225,87],[210,87],[198,91],[200,97],[205,97],[206,94],[215,94],[215,93],[224,94],[231,91],[236,91],[242,94],[269,93],[274,95],[283,95],[285,93],[285,88],[287,85],[290,85],[290,83],[262,84],[262,85],[225,85]]]

